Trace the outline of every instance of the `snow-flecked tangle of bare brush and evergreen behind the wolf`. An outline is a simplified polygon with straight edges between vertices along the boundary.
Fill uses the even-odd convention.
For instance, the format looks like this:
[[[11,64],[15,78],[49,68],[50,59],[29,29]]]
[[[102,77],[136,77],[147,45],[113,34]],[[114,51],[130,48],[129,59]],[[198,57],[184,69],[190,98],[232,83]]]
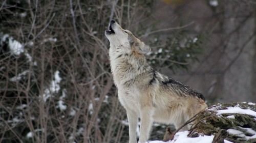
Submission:
[[[145,41],[155,47],[148,58],[156,69],[187,69],[206,40],[205,33],[188,36],[181,25],[163,44],[161,30],[145,26],[154,21],[150,0],[1,3],[0,142],[128,139],[104,37],[111,19],[138,37],[156,39]],[[165,126],[153,138],[160,129]]]

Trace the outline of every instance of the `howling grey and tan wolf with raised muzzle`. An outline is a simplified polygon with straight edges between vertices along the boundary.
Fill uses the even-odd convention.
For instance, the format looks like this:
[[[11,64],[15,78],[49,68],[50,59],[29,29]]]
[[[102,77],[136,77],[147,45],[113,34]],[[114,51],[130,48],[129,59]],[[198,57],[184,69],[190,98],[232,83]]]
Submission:
[[[144,54],[151,48],[132,32],[123,30],[115,20],[110,21],[105,36],[110,41],[110,64],[118,99],[126,109],[130,143],[137,142],[138,118],[141,122],[138,142],[144,143],[153,122],[179,128],[207,107],[201,93],[148,65]]]

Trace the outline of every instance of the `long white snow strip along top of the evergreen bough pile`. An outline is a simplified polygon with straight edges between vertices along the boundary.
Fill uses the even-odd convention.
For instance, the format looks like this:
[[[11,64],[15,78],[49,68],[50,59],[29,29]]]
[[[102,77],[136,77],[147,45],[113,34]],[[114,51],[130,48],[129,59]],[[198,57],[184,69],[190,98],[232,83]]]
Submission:
[[[241,109],[240,107],[227,107],[226,110],[217,110],[216,115],[221,115],[223,113],[241,113],[245,115],[251,115],[256,117],[256,112],[250,109]]]

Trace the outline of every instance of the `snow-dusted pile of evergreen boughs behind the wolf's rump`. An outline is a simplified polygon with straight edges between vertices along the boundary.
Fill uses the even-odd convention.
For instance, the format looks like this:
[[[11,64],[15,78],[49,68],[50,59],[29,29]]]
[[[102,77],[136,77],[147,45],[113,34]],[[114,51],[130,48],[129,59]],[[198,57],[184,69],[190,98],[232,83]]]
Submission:
[[[230,107],[234,107],[232,108],[233,113],[220,114],[220,110],[228,110]],[[240,109],[243,110],[239,111]],[[250,112],[254,112],[254,116],[250,115]],[[255,103],[235,102],[213,105],[200,112],[195,120],[189,130],[189,137],[198,136],[198,134],[216,135],[220,131],[226,130],[227,134],[223,134],[223,139],[231,142],[256,141]]]

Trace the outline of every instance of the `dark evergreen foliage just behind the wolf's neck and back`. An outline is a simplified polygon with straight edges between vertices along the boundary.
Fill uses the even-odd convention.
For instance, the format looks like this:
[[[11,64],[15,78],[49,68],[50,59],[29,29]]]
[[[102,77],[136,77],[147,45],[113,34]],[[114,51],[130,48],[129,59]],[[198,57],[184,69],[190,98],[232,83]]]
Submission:
[[[197,56],[204,52],[204,45],[210,33],[202,32],[194,37],[188,36],[186,30],[171,33],[164,45],[158,37],[150,42],[157,49],[148,53],[148,61],[158,69],[168,68],[174,72],[179,69],[188,70],[191,62],[199,62]]]

